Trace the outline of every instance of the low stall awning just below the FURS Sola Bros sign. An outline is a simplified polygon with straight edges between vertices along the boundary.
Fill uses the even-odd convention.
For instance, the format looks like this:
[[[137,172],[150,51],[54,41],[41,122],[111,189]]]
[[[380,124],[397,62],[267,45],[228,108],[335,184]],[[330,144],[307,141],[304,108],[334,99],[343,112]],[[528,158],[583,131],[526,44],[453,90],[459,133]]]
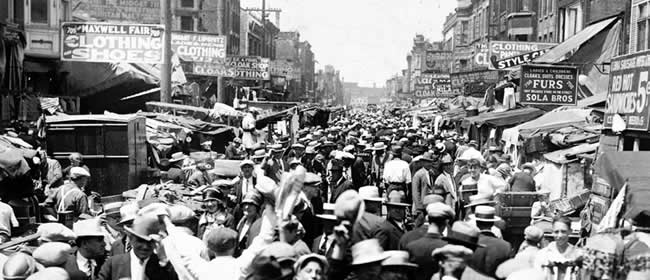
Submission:
[[[489,124],[491,126],[510,126],[530,121],[544,114],[544,111],[526,107],[521,109],[509,110],[504,112],[487,112],[478,116],[465,118],[462,126],[469,127],[476,125],[478,127]]]

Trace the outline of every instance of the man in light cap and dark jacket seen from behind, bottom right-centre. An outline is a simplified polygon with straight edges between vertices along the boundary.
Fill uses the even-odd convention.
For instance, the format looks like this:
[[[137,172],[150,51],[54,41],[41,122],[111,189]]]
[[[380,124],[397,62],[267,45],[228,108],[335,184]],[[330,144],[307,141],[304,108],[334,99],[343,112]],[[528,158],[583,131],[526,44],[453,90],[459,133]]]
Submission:
[[[438,272],[438,262],[431,257],[433,250],[447,245],[442,240],[442,232],[447,223],[454,218],[454,211],[447,204],[435,202],[427,205],[427,233],[424,237],[408,243],[406,251],[409,252],[411,262],[418,265],[417,280],[428,280]]]

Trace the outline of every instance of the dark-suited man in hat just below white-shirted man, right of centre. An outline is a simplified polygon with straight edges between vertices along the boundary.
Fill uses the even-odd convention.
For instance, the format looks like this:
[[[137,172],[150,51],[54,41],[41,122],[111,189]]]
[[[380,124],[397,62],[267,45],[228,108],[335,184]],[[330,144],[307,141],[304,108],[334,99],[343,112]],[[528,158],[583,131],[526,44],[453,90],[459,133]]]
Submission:
[[[388,215],[379,227],[379,233],[377,235],[379,244],[384,248],[384,251],[397,250],[399,240],[404,235],[404,232],[406,232],[404,223],[406,220],[406,208],[411,205],[404,203],[405,200],[406,194],[400,189],[394,189],[388,193],[388,201],[385,203]]]

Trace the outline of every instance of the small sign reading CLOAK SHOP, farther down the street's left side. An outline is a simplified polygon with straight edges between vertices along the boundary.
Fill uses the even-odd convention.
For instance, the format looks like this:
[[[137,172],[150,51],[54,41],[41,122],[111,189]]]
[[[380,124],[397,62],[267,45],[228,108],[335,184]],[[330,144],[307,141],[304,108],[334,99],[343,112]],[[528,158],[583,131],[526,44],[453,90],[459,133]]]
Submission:
[[[259,56],[226,57],[226,67],[240,80],[270,80],[269,64],[271,60]]]

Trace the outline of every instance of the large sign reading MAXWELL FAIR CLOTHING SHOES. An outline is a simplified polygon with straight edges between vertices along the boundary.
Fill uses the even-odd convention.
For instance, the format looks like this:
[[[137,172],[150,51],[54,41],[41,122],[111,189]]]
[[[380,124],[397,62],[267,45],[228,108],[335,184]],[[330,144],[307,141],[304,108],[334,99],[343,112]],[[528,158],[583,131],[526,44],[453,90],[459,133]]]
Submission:
[[[160,64],[163,36],[162,25],[65,22],[61,60]]]

